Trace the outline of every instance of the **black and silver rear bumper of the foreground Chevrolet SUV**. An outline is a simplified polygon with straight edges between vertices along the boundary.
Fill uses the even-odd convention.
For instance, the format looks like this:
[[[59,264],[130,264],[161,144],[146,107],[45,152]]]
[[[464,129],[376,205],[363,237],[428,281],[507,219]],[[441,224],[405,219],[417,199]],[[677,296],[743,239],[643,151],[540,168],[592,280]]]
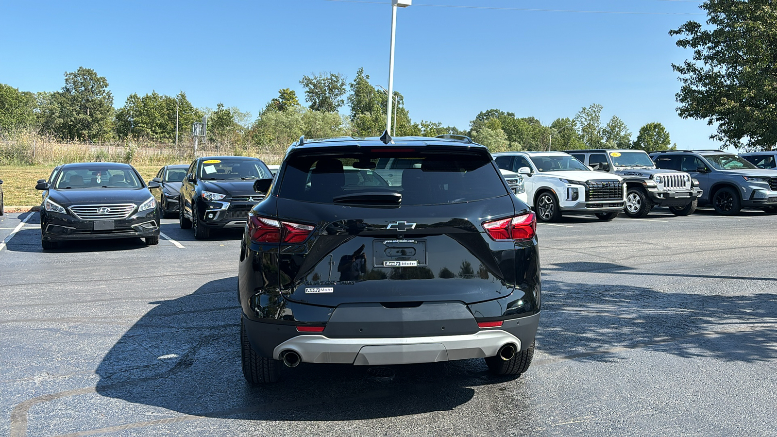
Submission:
[[[263,356],[280,359],[294,351],[302,362],[353,365],[399,365],[441,362],[497,355],[505,344],[518,350],[534,341],[539,313],[504,320],[496,329],[475,330],[471,334],[432,335],[424,337],[328,337],[322,334],[300,334],[296,327],[264,323],[243,316],[249,341]],[[369,323],[362,323],[368,329]]]

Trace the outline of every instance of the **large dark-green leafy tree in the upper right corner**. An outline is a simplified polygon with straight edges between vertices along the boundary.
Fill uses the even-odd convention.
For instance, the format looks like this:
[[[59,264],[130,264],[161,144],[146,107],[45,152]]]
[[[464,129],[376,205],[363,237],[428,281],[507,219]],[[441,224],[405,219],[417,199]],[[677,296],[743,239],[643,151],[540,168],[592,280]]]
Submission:
[[[717,126],[735,148],[777,147],[777,6],[773,0],[707,0],[706,26],[688,21],[671,36],[693,50],[680,74],[678,114]]]

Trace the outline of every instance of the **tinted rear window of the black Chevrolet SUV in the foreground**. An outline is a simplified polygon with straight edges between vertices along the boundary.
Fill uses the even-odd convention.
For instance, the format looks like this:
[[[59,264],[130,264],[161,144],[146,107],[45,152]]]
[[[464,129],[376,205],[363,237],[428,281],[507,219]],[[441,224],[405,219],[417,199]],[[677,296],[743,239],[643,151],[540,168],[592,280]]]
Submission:
[[[509,194],[490,157],[391,152],[389,157],[395,158],[395,162],[408,165],[381,169],[378,161],[385,163],[386,157],[386,152],[291,156],[280,182],[279,196],[340,203],[334,199],[347,194],[378,194],[378,198],[382,194],[401,194],[401,205],[439,205]]]

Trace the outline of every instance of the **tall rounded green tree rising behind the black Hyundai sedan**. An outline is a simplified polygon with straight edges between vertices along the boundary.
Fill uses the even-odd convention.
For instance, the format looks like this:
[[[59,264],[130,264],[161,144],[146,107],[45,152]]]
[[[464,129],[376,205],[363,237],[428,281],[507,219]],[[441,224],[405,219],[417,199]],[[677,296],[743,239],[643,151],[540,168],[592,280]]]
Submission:
[[[54,98],[59,124],[55,132],[64,138],[104,140],[113,132],[113,94],[108,81],[92,68],[78,67],[64,73],[64,86]]]

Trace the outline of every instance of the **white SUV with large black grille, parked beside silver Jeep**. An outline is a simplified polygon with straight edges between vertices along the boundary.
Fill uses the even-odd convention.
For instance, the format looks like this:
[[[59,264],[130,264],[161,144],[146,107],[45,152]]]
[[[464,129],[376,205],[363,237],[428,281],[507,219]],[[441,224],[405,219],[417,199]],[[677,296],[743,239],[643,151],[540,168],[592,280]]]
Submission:
[[[540,222],[556,222],[563,213],[595,214],[609,221],[625,205],[622,177],[595,172],[564,152],[503,152],[493,157],[500,169],[524,176],[527,203]]]

